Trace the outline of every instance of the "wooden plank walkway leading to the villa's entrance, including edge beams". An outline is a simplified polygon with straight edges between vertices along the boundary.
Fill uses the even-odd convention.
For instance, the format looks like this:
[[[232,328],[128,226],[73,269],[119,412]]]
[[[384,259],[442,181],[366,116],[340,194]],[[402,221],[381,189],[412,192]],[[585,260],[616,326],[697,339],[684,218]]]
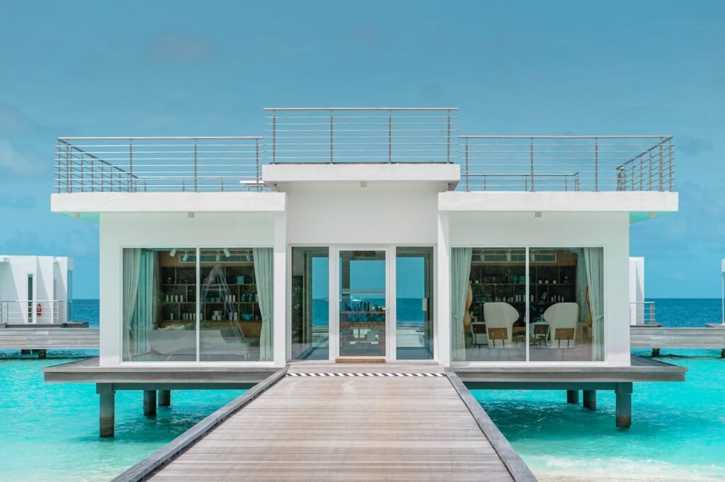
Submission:
[[[439,365],[295,363],[277,380],[117,480],[536,480]]]

